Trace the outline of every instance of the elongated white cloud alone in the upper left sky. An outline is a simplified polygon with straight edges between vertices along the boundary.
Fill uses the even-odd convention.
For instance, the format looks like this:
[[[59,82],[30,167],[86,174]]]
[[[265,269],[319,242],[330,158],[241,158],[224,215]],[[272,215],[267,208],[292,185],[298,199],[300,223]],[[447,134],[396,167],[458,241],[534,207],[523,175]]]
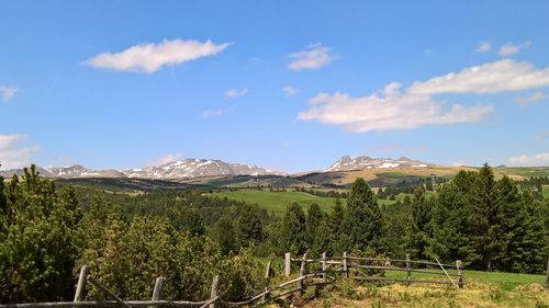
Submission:
[[[178,65],[201,57],[213,56],[228,46],[211,41],[163,41],[158,44],[141,44],[121,53],[103,53],[85,61],[96,68],[153,73],[164,66]]]

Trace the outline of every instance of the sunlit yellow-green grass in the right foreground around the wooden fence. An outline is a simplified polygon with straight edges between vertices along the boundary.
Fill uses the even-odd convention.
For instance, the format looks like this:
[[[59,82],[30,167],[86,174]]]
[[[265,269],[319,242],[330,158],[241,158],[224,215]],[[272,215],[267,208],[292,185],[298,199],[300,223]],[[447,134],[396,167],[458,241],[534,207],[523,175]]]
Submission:
[[[260,261],[266,264],[268,259]],[[280,258],[274,260],[277,273],[282,272],[281,263]],[[388,277],[404,278],[405,275],[405,272],[385,273]],[[433,280],[433,275],[412,275],[414,278]],[[307,288],[303,297],[294,296],[278,303],[278,306],[262,307],[549,307],[549,290],[544,288],[545,275],[464,271],[463,276],[463,289],[451,285],[359,284],[351,280],[337,280],[323,289]],[[282,282],[280,280],[277,283]],[[446,276],[437,276],[436,280],[446,280]]]

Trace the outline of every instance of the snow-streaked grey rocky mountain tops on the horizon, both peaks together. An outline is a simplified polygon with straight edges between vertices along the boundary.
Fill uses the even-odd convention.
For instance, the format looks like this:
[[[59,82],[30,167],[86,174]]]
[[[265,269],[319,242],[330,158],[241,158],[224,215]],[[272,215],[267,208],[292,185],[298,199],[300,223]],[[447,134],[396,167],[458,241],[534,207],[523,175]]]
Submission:
[[[369,156],[345,156],[323,172],[390,169],[390,168],[427,168],[434,164],[405,157],[399,159],[373,158]],[[255,164],[229,163],[212,159],[184,159],[157,167],[146,167],[128,170],[93,170],[75,164],[61,168],[41,168],[37,171],[45,178],[78,179],[78,178],[138,178],[156,180],[195,179],[227,175],[284,175],[284,172],[271,171]],[[0,171],[4,178],[23,174],[22,169]]]

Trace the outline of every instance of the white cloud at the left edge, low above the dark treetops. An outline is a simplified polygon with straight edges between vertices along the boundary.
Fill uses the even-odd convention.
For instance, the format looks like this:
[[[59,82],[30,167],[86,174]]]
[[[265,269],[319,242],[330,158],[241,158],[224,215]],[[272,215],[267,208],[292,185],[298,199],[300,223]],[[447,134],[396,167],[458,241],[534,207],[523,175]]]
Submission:
[[[14,169],[31,164],[32,155],[40,151],[36,146],[22,146],[25,135],[0,135],[0,163],[2,169]]]

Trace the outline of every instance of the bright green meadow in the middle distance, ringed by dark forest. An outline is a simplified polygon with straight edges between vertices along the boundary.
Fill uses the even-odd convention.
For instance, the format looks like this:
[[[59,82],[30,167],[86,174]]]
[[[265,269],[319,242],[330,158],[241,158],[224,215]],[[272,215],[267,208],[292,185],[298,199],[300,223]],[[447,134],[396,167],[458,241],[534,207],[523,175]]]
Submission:
[[[277,215],[283,215],[285,208],[292,202],[301,204],[304,209],[307,209],[311,204],[316,203],[323,210],[329,212],[334,206],[334,198],[320,197],[302,192],[270,192],[270,191],[234,191],[214,193],[219,197],[227,197],[231,199],[244,201],[247,203],[258,204],[259,207]],[[341,199],[345,204],[345,199]]]

